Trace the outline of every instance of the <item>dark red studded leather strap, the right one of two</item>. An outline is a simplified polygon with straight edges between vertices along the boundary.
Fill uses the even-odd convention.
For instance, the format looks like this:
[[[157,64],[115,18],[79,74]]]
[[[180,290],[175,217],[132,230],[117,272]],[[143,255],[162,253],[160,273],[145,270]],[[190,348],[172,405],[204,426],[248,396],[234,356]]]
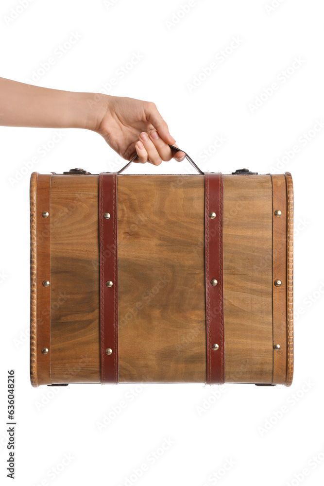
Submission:
[[[222,278],[222,207],[221,173],[205,173],[205,285],[206,346],[208,384],[223,383],[224,323]]]

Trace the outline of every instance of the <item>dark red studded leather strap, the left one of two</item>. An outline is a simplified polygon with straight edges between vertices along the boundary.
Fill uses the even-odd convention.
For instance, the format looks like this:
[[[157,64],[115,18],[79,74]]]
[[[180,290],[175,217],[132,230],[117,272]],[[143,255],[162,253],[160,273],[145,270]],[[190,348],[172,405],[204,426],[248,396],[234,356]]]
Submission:
[[[118,383],[117,174],[99,175],[101,382]]]

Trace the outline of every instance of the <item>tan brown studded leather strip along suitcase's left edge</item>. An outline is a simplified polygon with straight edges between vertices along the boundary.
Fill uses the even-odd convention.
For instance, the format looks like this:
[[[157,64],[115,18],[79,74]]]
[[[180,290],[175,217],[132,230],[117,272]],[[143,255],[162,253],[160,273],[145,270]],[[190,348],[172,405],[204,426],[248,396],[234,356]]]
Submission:
[[[36,366],[38,384],[47,384],[51,378],[51,175],[37,174],[35,223],[36,278]],[[35,246],[34,246],[35,243]],[[32,281],[33,292],[33,281]],[[33,349],[33,346],[32,346]]]

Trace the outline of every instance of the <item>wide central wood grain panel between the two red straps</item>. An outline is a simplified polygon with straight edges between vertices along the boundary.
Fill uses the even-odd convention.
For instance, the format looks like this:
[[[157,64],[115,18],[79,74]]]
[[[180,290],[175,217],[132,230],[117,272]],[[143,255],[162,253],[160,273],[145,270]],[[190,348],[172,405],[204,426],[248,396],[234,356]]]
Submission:
[[[118,177],[119,381],[205,382],[205,178]]]

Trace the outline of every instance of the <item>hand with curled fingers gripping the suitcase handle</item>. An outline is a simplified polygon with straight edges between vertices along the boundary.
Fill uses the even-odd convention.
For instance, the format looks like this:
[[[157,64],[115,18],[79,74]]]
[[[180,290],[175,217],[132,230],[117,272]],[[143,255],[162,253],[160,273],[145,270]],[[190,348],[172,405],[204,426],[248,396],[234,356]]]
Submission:
[[[121,157],[134,162],[160,165],[172,157],[180,161],[184,152],[171,150],[175,145],[167,123],[154,103],[119,96],[104,96],[96,132]],[[177,145],[175,145],[177,146]]]

